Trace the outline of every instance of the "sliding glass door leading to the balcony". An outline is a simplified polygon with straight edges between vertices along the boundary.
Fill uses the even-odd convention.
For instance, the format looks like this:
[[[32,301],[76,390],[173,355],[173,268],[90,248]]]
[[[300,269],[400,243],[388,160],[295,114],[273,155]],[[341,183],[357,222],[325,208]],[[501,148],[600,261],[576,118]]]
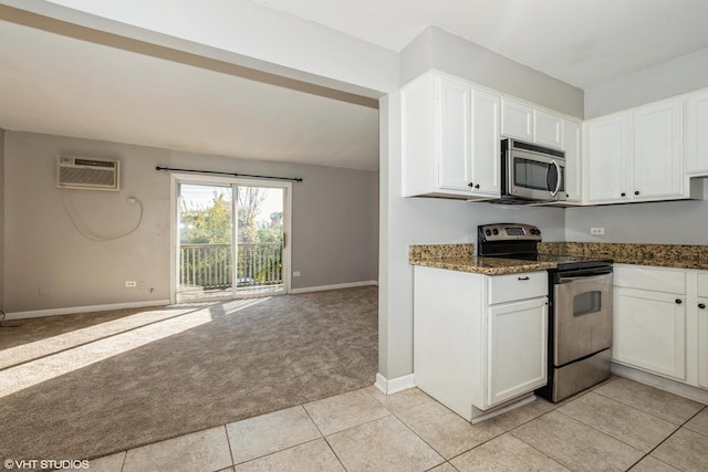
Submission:
[[[175,302],[287,291],[290,183],[177,179]]]

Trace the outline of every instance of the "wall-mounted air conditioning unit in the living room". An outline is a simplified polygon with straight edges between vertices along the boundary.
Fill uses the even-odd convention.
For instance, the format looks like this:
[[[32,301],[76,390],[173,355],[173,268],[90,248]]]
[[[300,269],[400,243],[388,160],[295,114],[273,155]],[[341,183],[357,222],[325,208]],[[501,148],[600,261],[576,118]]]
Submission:
[[[121,161],[56,156],[56,188],[121,190]]]

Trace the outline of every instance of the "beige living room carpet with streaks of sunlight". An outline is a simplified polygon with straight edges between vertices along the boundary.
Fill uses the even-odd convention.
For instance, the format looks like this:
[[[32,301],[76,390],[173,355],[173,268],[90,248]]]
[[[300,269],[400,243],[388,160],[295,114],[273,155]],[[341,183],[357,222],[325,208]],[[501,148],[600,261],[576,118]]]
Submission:
[[[373,286],[0,329],[0,459],[93,459],[372,385]]]

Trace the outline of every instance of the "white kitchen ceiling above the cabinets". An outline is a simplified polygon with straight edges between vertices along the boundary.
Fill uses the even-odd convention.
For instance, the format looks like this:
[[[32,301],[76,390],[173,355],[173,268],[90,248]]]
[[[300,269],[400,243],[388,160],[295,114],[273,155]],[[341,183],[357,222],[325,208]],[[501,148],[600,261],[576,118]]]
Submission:
[[[400,51],[436,25],[590,88],[708,46],[706,0],[257,0]]]

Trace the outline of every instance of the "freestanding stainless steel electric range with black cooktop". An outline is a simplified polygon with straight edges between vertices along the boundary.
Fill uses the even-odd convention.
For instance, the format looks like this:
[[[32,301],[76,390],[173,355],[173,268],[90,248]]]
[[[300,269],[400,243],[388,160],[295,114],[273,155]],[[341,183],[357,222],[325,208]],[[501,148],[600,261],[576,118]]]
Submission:
[[[530,224],[478,227],[481,256],[556,262],[549,271],[549,381],[538,395],[560,401],[610,377],[612,260],[540,254]]]

